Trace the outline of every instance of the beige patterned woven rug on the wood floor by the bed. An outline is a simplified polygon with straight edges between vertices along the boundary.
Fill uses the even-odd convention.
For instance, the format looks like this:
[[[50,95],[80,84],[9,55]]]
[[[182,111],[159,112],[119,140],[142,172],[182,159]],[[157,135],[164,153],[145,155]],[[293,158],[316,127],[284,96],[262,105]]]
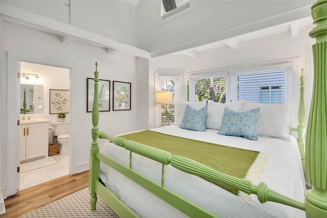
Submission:
[[[87,187],[19,217],[119,218],[100,198],[98,198],[97,209],[95,211],[90,211],[89,202],[90,195]]]

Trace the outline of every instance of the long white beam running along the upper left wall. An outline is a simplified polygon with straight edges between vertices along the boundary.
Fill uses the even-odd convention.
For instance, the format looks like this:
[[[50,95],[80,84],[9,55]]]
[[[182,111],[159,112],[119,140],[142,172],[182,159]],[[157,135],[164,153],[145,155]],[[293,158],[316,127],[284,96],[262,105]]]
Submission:
[[[74,37],[76,41],[85,42],[99,47],[110,47],[134,57],[142,57],[146,59],[151,58],[150,52],[139,49],[138,47],[27,11],[6,2],[0,2],[0,17],[10,22],[19,23],[20,25],[63,36],[63,42],[66,40],[72,40],[72,38],[69,37]],[[69,37],[65,38],[66,36]]]

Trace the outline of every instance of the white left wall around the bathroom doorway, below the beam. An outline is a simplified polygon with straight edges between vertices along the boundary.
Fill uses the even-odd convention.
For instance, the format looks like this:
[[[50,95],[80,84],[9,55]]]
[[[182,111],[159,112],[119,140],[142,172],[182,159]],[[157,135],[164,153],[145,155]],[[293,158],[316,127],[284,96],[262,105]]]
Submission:
[[[94,78],[95,62],[98,62],[99,78],[104,80],[117,80],[132,83],[132,108],[130,111],[100,112],[99,127],[106,132],[115,135],[122,132],[135,131],[137,117],[137,77],[135,70],[135,58],[123,54],[107,55],[105,50],[80,43],[73,42],[69,45],[61,43],[61,37],[49,33],[40,32],[27,27],[22,27],[3,21],[2,23],[2,102],[7,105],[11,101],[7,96],[16,93],[16,84],[10,84],[11,79],[7,77],[7,54],[18,61],[36,62],[59,67],[71,68],[70,78],[70,125],[72,155],[71,174],[88,168],[89,147],[91,143],[91,113],[86,112],[86,78]],[[23,58],[21,58],[23,57]],[[11,62],[9,64],[12,64]],[[16,66],[9,66],[8,68]],[[18,71],[19,69],[17,69]],[[12,75],[14,74],[14,75]],[[15,70],[8,72],[13,78]],[[139,75],[142,80],[142,75]],[[146,75],[147,76],[147,75]],[[13,80],[15,81],[15,80]],[[7,84],[7,82],[9,82]],[[58,86],[56,86],[58,87]],[[10,93],[7,92],[7,88]],[[134,94],[135,93],[135,94]],[[144,96],[142,96],[144,98]],[[112,96],[111,96],[112,100]],[[16,101],[16,100],[14,100]],[[45,103],[46,105],[47,103]],[[111,106],[112,107],[112,106]],[[7,123],[16,122],[16,117],[7,117],[6,107],[2,111],[2,148],[5,150],[2,160],[6,163],[9,146],[7,141]],[[102,140],[103,142],[103,140]],[[100,144],[102,143],[100,142]],[[10,157],[11,154],[8,154]],[[1,175],[7,175],[6,167],[3,166]],[[6,177],[6,176],[5,176]],[[4,178],[4,177],[2,177]],[[2,188],[8,185],[6,178],[3,179]]]

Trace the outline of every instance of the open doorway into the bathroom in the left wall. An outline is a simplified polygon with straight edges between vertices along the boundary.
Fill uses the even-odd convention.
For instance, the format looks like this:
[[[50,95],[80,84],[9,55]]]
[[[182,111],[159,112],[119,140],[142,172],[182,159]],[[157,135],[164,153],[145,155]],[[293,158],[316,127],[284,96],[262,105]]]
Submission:
[[[70,69],[68,68],[20,62],[21,136],[19,137],[20,173],[18,190],[69,174],[69,152],[59,153],[61,144],[59,144],[57,136],[53,134],[53,124],[59,122],[59,112],[64,112],[64,121],[69,125],[69,75]],[[58,103],[55,102],[56,99],[54,99],[58,94],[64,95],[63,98],[65,99],[59,108]],[[29,131],[29,137],[33,137],[32,127],[35,126],[39,128],[38,140],[22,138],[27,134],[27,131]],[[40,132],[45,136],[41,135]],[[69,134],[69,128],[67,134]],[[32,141],[34,147],[35,144],[39,143],[39,138],[42,137],[44,141],[41,142],[41,148],[38,149],[38,152],[40,150],[42,152],[36,154],[35,151],[31,150],[29,143]]]

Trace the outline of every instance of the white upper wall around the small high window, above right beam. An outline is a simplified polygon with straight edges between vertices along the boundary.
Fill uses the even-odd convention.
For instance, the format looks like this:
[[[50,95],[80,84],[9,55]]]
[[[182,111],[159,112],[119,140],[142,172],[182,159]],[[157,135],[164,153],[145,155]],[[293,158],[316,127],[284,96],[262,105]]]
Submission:
[[[227,39],[310,16],[315,1],[191,1],[194,9],[160,22],[160,1],[142,1],[137,8],[137,45],[155,52],[177,45]],[[176,51],[175,51],[176,52]]]

